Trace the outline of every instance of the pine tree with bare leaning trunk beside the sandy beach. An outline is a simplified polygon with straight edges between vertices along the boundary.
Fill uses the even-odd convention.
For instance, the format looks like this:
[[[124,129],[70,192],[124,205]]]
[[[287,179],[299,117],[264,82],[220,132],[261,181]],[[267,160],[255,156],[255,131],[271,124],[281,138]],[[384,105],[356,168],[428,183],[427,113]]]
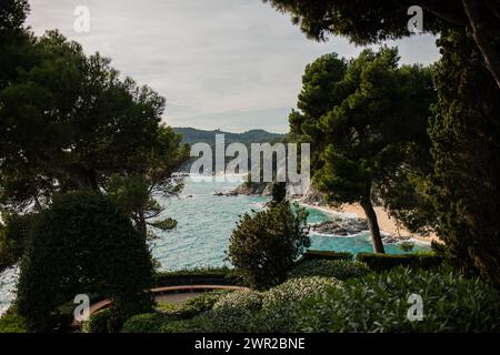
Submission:
[[[391,201],[402,192],[407,180],[400,176],[412,160],[420,162],[422,144],[429,146],[434,97],[430,70],[398,61],[390,48],[364,50],[349,62],[327,54],[307,67],[300,111],[290,114],[291,132],[312,142],[319,189],[330,202],[361,204],[379,253],[383,245],[372,200],[376,192],[382,199],[392,193]]]

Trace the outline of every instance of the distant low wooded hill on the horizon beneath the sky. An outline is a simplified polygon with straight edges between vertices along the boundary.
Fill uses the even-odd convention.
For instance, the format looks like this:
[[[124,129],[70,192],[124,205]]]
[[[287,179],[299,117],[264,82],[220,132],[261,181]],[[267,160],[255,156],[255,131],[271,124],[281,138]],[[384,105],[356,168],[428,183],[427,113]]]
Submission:
[[[284,134],[270,133],[264,130],[250,130],[243,133],[231,133],[221,130],[203,131],[191,128],[173,128],[173,131],[182,134],[182,142],[189,144],[204,142],[212,145],[216,143],[216,134],[224,134],[226,144],[231,144],[233,142],[240,142],[246,145],[249,143],[272,143],[284,139]]]

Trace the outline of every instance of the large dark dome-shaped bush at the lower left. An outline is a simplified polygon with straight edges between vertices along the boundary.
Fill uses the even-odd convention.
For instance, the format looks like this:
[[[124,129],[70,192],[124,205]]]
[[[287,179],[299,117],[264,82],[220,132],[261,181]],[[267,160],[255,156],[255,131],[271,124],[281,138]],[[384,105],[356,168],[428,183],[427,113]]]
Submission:
[[[70,193],[37,217],[21,262],[19,313],[30,331],[50,332],[58,307],[100,294],[126,316],[148,310],[152,265],[144,240],[106,196]]]

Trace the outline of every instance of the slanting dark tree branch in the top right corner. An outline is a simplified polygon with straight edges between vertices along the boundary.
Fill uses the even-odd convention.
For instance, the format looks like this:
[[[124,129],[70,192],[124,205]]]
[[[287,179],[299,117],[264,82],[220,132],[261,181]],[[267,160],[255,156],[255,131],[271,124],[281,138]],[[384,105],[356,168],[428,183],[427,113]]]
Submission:
[[[500,88],[500,58],[491,44],[491,40],[483,32],[476,0],[462,0],[462,3],[472,29],[472,38],[482,53],[487,69],[493,75],[497,85]]]

